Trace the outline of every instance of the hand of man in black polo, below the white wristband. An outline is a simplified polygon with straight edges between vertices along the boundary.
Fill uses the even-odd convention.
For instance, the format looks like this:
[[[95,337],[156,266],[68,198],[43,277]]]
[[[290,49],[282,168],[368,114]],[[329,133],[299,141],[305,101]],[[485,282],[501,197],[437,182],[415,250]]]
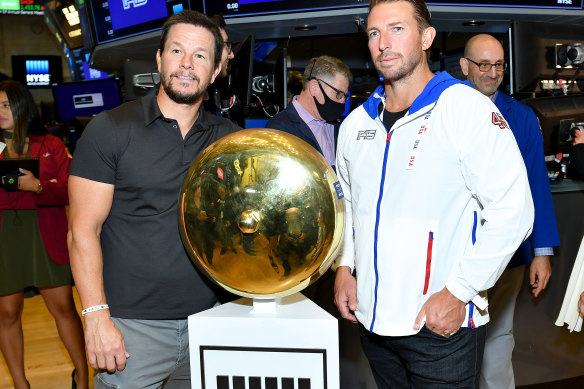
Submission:
[[[85,343],[89,364],[94,369],[110,373],[124,370],[126,351],[124,336],[109,316],[108,311],[96,311],[85,315]]]

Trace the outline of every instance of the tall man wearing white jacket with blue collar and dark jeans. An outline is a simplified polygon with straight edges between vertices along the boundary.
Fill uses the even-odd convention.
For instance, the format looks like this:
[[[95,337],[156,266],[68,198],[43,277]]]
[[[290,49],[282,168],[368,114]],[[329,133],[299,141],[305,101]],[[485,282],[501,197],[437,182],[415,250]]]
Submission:
[[[481,295],[533,223],[525,166],[494,104],[430,71],[422,0],[373,0],[367,33],[384,85],[339,134],[335,303],[360,323],[380,388],[478,387]]]

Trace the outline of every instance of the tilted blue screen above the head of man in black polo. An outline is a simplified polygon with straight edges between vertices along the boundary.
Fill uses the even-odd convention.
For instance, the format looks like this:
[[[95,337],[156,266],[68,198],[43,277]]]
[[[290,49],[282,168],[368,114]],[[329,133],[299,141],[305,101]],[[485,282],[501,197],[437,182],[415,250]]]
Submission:
[[[96,44],[159,30],[185,9],[202,11],[202,0],[89,0]]]

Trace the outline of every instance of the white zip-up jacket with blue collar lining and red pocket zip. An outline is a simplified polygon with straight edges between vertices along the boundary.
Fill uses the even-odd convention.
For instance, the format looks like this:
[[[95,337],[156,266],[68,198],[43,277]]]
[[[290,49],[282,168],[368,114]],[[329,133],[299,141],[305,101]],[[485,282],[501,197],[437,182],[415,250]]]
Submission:
[[[356,268],[357,319],[403,336],[445,286],[465,302],[493,286],[531,232],[533,202],[517,143],[488,97],[438,73],[386,129],[383,92],[341,125],[347,232],[337,265]],[[462,326],[487,322],[467,304]]]

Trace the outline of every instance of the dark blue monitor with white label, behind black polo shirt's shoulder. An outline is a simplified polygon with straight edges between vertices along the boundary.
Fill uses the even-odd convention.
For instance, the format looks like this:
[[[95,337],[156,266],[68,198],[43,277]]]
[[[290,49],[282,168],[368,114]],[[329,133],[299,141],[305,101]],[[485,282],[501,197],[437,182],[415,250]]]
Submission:
[[[115,78],[54,85],[53,96],[63,122],[97,115],[122,103],[120,85]]]

